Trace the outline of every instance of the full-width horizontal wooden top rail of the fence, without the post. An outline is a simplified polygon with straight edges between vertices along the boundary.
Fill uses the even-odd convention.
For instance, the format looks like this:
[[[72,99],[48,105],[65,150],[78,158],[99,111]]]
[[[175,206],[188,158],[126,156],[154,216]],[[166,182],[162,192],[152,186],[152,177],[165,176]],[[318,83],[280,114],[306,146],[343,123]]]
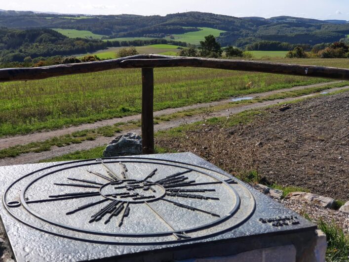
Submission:
[[[0,82],[44,79],[116,68],[203,67],[349,80],[349,69],[260,61],[135,55],[118,59],[33,68],[0,69]]]

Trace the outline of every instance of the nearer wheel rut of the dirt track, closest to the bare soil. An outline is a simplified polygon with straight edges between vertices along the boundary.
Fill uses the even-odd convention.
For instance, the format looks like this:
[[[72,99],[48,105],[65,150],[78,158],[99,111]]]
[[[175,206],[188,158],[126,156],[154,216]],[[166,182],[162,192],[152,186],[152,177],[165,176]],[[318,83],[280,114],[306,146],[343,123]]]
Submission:
[[[327,92],[334,92],[337,90],[345,89],[348,87],[336,87],[332,89],[328,89]],[[287,101],[293,101],[295,99],[299,99],[302,97],[308,97],[308,96],[313,96],[317,93],[311,94],[311,95],[306,95],[306,96],[300,96],[300,97],[292,97],[292,98],[285,98],[285,99],[277,99],[277,100],[272,100],[272,101],[265,101],[262,103],[253,103],[253,104],[248,104],[248,105],[242,105],[240,107],[234,107],[229,110],[223,110],[223,111],[218,111],[214,112],[209,115],[209,117],[223,117],[223,116],[229,116],[232,114],[237,114],[242,111],[248,110],[248,109],[253,109],[253,108],[261,108],[269,105],[275,105],[280,102],[287,102]],[[154,126],[154,131],[160,131],[160,130],[168,130],[174,127],[178,127],[183,124],[190,124],[194,123],[197,121],[200,121],[203,119],[202,115],[194,115],[191,117],[185,117],[182,119],[175,119],[169,122],[161,122],[158,125]],[[135,133],[140,133],[141,130],[140,128],[134,129],[134,130],[125,130],[123,132],[135,132]],[[22,154],[18,157],[15,158],[3,158],[0,159],[0,166],[8,166],[8,165],[20,165],[20,164],[28,164],[28,163],[35,163],[39,162],[40,160],[56,157],[56,156],[61,156],[67,153],[71,153],[74,151],[78,150],[87,150],[93,147],[101,146],[104,144],[109,143],[113,138],[112,137],[98,137],[93,141],[84,141],[80,144],[71,144],[69,146],[65,147],[52,147],[50,151],[46,152],[40,152],[40,153],[28,153],[28,154]]]

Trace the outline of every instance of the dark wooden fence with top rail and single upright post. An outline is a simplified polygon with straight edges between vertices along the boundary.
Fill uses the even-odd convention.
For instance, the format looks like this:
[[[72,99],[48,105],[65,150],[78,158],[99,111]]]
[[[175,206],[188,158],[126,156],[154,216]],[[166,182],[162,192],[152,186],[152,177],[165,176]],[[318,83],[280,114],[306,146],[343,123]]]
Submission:
[[[144,154],[154,153],[154,72],[157,67],[203,67],[272,74],[320,77],[349,81],[349,69],[260,61],[134,55],[118,59],[34,68],[0,69],[0,82],[38,80],[50,77],[92,73],[116,68],[142,68],[142,147]]]

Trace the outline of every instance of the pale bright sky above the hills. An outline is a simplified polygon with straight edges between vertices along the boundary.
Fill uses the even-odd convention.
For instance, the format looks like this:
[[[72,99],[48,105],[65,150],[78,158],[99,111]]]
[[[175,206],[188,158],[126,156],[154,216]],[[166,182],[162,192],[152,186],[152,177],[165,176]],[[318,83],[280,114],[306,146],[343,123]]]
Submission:
[[[288,15],[349,20],[349,0],[0,0],[0,9],[140,15],[200,11],[237,17]]]

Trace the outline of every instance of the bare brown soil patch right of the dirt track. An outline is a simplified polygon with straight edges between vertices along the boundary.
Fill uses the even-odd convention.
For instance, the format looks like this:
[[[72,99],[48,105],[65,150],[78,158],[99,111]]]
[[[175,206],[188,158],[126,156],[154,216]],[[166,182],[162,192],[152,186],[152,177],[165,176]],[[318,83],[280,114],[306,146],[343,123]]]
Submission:
[[[246,125],[205,125],[156,143],[194,152],[231,174],[257,171],[271,184],[349,200],[349,92],[264,109]]]

